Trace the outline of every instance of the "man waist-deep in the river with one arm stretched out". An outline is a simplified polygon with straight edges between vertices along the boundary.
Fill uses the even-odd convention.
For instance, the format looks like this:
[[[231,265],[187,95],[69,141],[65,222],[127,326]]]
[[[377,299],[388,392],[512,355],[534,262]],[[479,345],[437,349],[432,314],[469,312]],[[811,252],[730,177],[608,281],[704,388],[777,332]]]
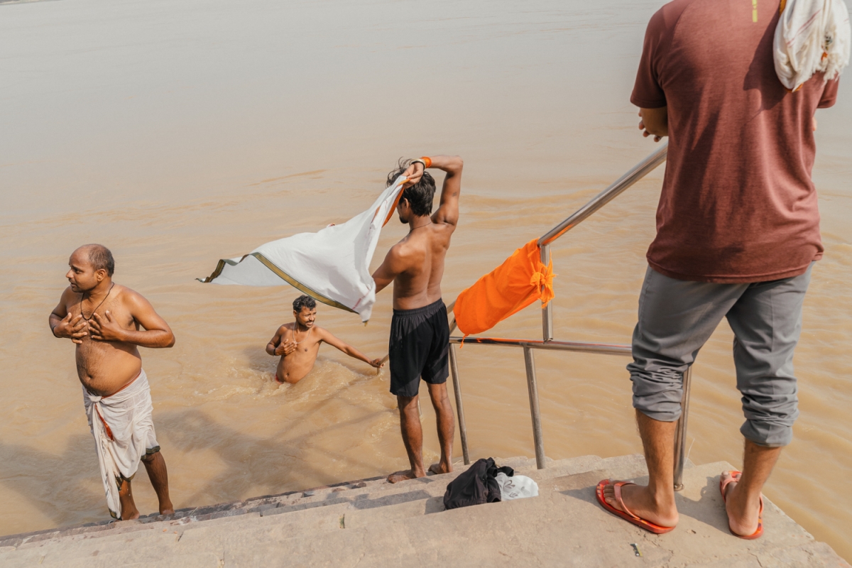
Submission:
[[[266,347],[268,354],[281,358],[275,370],[277,382],[295,384],[308,375],[314,369],[323,341],[372,367],[381,369],[384,366],[382,359],[368,359],[364,353],[317,325],[317,302],[311,296],[300,295],[293,301],[293,317],[296,321],[279,327]]]

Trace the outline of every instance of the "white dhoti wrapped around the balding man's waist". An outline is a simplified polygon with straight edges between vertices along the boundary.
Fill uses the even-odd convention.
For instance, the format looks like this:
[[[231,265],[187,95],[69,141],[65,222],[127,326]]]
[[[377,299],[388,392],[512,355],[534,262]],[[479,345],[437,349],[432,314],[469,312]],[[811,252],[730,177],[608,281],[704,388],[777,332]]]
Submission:
[[[122,478],[133,478],[146,452],[159,450],[148,377],[142,370],[129,387],[108,397],[95,396],[83,387],[83,405],[95,436],[107,507],[113,518],[121,519],[118,484]]]

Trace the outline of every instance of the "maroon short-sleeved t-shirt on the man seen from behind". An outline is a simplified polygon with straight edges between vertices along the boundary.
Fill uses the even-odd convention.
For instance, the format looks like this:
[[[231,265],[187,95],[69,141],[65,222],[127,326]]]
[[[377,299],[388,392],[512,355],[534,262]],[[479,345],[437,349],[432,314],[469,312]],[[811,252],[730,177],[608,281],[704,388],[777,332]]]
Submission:
[[[822,256],[811,118],[838,81],[789,93],[775,75],[780,0],[675,0],[653,15],[630,101],[668,107],[669,154],[651,267],[671,278],[762,282]]]

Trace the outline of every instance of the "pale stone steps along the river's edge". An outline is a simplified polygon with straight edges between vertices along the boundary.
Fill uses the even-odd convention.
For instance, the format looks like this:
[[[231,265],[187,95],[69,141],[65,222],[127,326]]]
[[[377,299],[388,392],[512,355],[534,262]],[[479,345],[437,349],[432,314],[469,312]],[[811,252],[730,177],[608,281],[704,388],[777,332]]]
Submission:
[[[457,473],[396,485],[364,479],[262,496],[168,517],[0,537],[3,566],[844,566],[830,547],[767,500],[766,534],[728,533],[718,475],[724,462],[689,467],[677,495],[681,522],[662,536],[600,508],[599,479],[647,474],[642,456],[498,460],[539,486],[539,496],[443,510]],[[691,464],[690,464],[691,465]],[[641,554],[641,555],[637,555]]]

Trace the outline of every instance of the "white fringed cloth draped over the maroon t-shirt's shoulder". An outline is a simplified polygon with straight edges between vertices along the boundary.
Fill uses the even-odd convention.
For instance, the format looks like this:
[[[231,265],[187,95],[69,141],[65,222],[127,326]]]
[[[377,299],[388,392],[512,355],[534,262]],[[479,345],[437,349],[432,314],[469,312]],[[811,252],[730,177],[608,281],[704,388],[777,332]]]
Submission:
[[[775,72],[791,91],[816,72],[832,80],[849,65],[852,31],[843,0],[786,0],[772,44]]]

